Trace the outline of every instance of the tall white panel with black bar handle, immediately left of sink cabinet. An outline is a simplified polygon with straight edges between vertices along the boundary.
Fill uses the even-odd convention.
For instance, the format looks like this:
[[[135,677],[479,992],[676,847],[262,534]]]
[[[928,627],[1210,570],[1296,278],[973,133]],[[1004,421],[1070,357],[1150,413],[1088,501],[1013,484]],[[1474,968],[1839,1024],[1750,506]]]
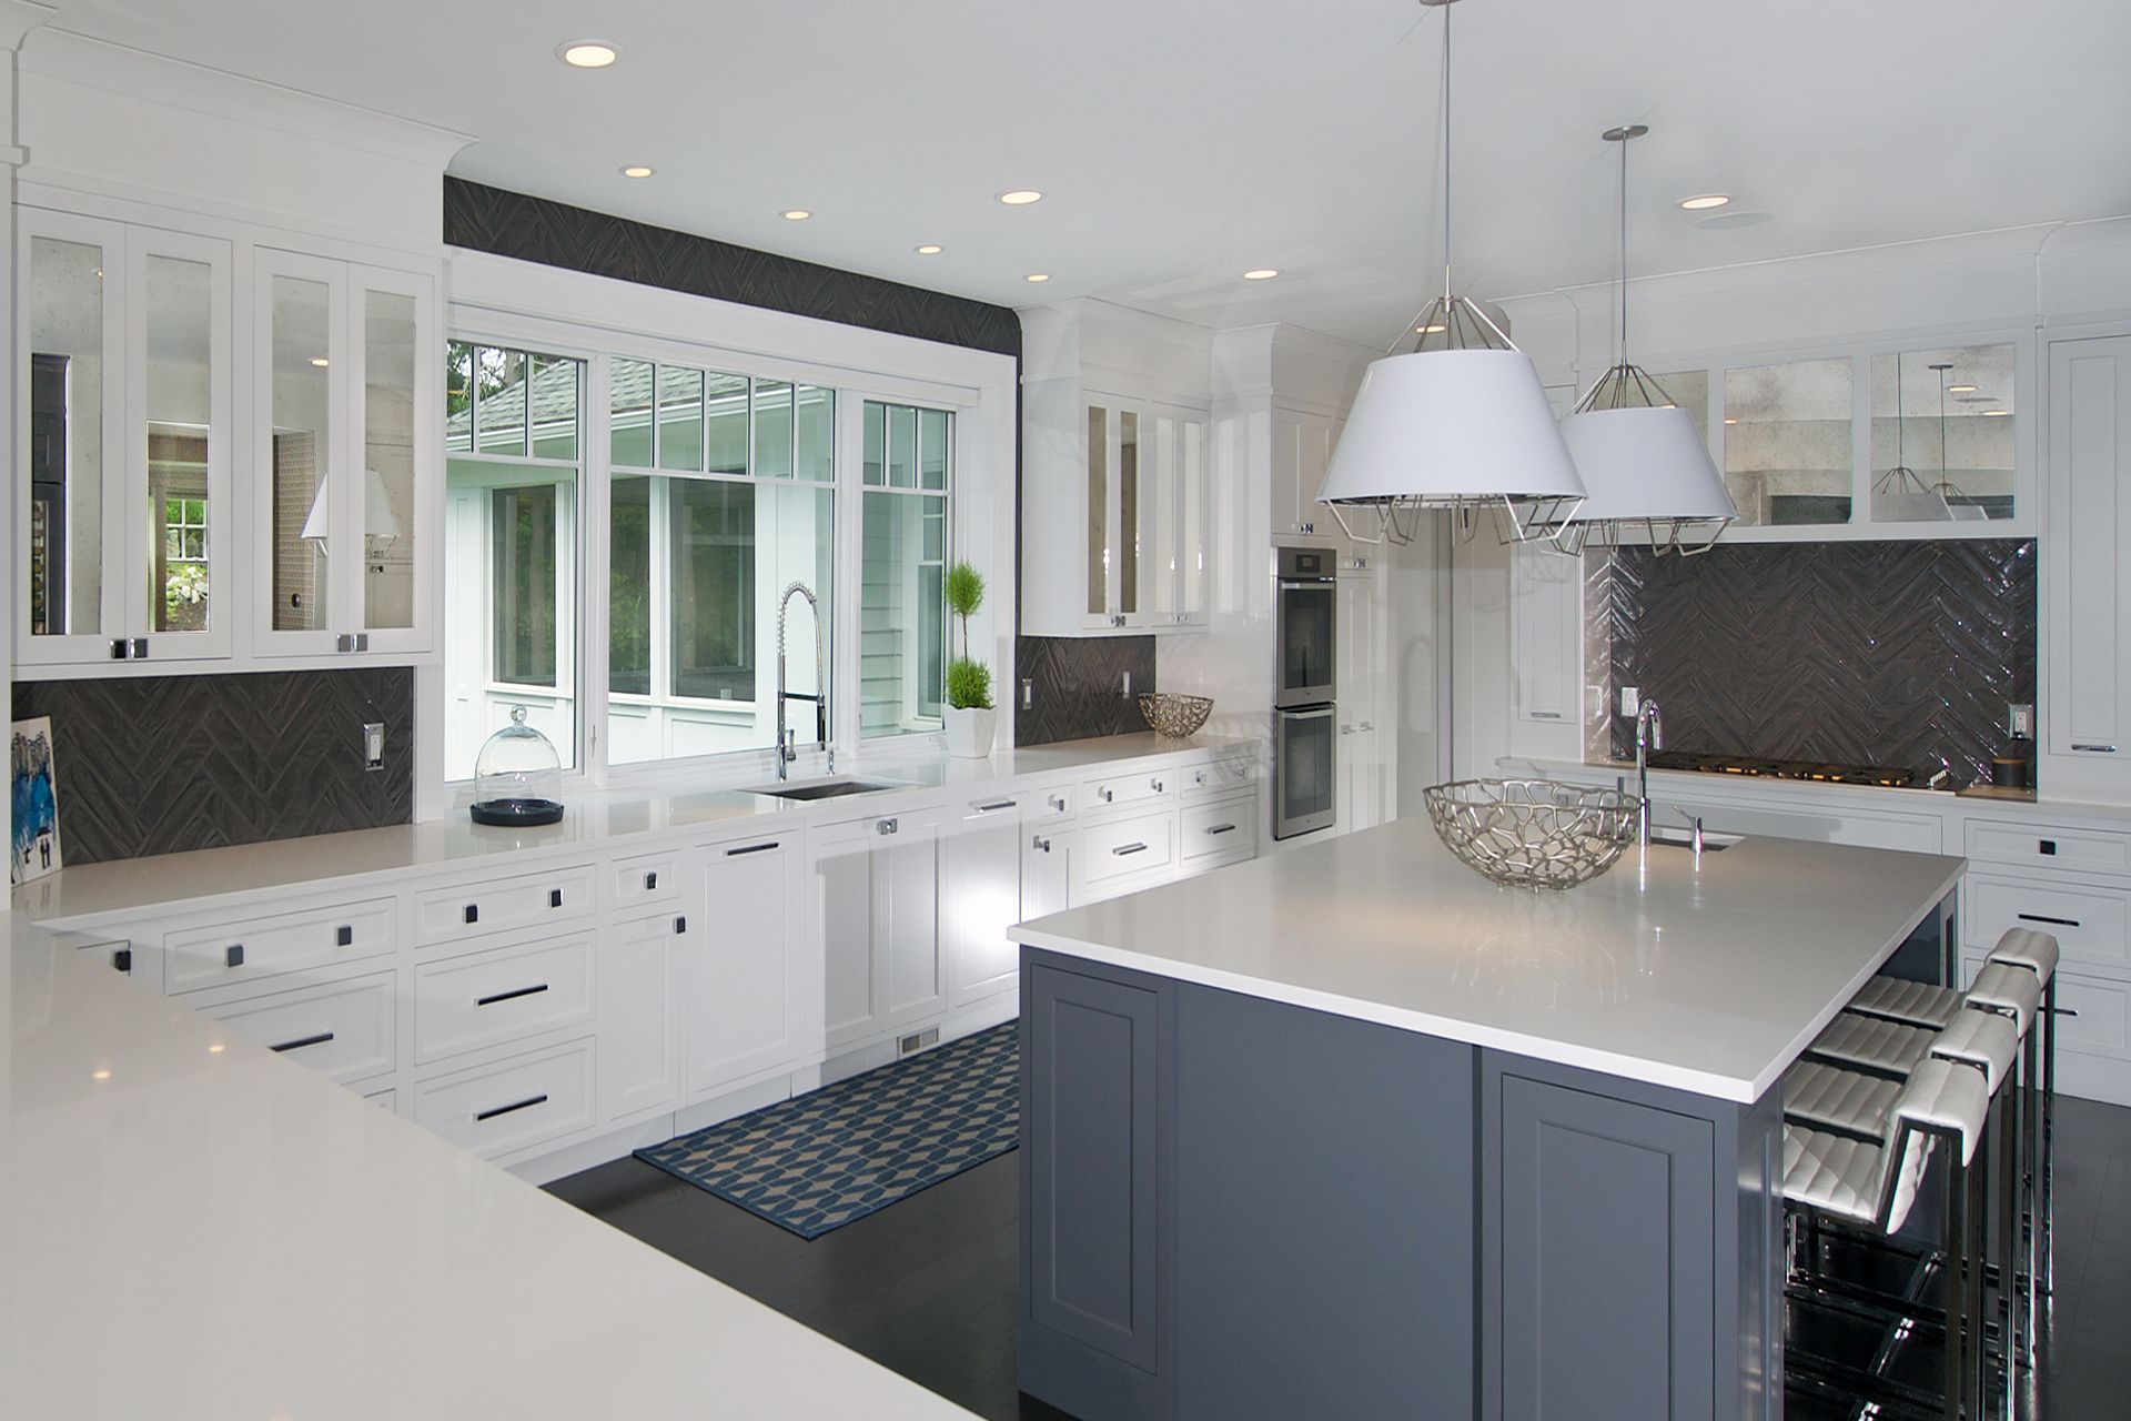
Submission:
[[[820,944],[799,931],[799,829],[703,850],[701,931],[684,971],[688,1097],[820,1050]],[[693,927],[693,925],[690,925]]]

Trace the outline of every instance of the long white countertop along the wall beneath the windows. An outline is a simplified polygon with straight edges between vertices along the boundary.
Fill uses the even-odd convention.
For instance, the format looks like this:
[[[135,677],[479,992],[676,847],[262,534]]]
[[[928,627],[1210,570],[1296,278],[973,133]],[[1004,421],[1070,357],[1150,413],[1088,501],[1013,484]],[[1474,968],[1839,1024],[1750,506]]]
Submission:
[[[145,905],[209,905],[213,899],[335,880],[450,871],[497,854],[569,854],[614,848],[635,837],[701,829],[705,835],[776,833],[786,824],[837,822],[893,814],[899,799],[967,788],[982,795],[1010,780],[1095,771],[1127,761],[1204,756],[1208,750],[1255,752],[1247,739],[1193,735],[1164,739],[1153,731],[1106,735],[1053,746],[995,750],[985,758],[953,758],[942,750],[895,754],[882,750],[842,758],[837,778],[882,780],[895,788],[876,795],[791,801],[752,795],[744,786],[769,784],[776,773],[727,775],[716,786],[609,788],[565,793],[563,822],[546,829],[475,824],[454,805],[441,818],[388,829],[322,833],[303,839],[202,848],[188,854],[85,863],[15,888],[15,910],[45,922],[92,920]],[[820,778],[793,775],[795,782]]]

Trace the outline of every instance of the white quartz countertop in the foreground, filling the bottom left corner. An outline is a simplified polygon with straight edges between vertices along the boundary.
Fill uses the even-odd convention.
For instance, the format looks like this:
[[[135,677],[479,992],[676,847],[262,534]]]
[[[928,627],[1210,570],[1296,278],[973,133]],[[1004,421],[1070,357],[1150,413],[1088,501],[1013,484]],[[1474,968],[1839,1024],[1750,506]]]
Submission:
[[[0,1415],[967,1417],[0,916]]]

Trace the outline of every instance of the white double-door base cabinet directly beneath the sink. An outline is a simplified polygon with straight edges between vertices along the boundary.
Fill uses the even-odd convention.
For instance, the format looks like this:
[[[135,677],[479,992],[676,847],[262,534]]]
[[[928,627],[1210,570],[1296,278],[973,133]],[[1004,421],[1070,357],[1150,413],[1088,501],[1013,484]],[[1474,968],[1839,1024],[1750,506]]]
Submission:
[[[944,1003],[938,807],[810,829],[808,903],[827,1048],[891,1035]]]

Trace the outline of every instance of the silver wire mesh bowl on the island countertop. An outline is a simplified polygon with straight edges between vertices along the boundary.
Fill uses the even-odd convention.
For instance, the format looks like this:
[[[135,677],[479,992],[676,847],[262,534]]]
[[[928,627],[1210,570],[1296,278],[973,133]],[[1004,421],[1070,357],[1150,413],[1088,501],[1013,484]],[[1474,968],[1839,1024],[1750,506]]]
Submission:
[[[1553,780],[1453,780],[1421,790],[1428,822],[1473,871],[1509,888],[1575,888],[1634,839],[1634,797]]]

